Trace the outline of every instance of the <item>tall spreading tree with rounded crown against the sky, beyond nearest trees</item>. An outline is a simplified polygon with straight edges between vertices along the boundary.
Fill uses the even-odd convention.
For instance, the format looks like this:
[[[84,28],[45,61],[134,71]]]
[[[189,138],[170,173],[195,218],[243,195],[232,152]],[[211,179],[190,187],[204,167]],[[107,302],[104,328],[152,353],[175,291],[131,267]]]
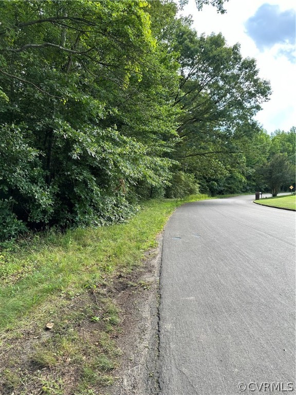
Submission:
[[[196,175],[205,191],[221,192],[226,184],[233,191],[229,177],[237,174],[235,183],[246,183],[240,141],[251,140],[260,130],[253,116],[268,100],[269,82],[258,77],[255,60],[243,59],[239,45],[227,46],[221,34],[198,37],[188,18],[176,22],[173,34],[174,50],[180,54],[175,106],[183,111],[174,158]]]

